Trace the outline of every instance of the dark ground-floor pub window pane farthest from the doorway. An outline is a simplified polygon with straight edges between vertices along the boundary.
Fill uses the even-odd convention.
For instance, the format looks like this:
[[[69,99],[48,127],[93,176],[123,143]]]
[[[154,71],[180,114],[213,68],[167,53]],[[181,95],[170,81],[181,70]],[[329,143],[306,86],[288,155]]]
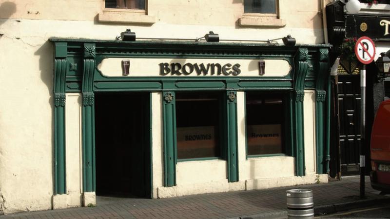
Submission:
[[[247,94],[248,155],[284,153],[282,95]]]

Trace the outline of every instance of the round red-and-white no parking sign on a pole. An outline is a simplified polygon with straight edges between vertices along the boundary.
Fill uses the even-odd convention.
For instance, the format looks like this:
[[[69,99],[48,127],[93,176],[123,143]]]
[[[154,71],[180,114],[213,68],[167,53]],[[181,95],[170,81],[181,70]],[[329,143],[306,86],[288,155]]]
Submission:
[[[370,64],[375,57],[375,44],[368,37],[361,37],[356,41],[355,54],[363,64]]]

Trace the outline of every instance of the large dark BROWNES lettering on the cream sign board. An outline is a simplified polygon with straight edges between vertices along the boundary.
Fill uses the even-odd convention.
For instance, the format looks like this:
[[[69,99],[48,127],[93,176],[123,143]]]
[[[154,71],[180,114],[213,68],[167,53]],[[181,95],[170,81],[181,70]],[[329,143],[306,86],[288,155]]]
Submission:
[[[162,62],[158,64],[160,66],[160,75],[191,75],[195,73],[197,76],[207,75],[222,75],[222,76],[237,76],[241,73],[240,64],[224,64],[211,63],[211,64],[198,64],[198,63],[185,63],[184,65],[172,62]]]

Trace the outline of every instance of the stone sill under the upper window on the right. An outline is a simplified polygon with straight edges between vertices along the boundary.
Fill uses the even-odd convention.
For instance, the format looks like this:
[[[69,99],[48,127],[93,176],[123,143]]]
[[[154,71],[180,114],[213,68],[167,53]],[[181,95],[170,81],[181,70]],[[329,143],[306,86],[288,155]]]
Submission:
[[[286,20],[278,19],[274,16],[253,16],[243,15],[238,23],[240,26],[254,26],[254,27],[284,27]]]

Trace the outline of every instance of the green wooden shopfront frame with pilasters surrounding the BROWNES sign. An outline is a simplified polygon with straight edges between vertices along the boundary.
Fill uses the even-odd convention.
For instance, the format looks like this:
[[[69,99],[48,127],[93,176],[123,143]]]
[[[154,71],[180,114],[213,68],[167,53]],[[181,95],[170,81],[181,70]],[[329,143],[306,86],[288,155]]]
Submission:
[[[55,190],[66,194],[65,185],[65,93],[82,93],[83,191],[93,192],[95,182],[94,92],[147,91],[163,94],[164,185],[176,185],[176,91],[226,91],[228,179],[238,181],[236,92],[284,90],[291,95],[291,154],[296,159],[296,175],[304,176],[303,98],[305,89],[316,89],[317,78],[329,71],[318,67],[328,63],[319,58],[329,45],[281,46],[253,43],[114,41],[85,39],[50,39],[55,44]],[[324,55],[328,57],[326,53]],[[105,77],[97,66],[106,58],[182,58],[182,59],[278,59],[292,66],[285,77]],[[313,71],[318,69],[318,71]],[[326,77],[325,77],[326,78]],[[318,89],[317,89],[318,90]],[[318,92],[318,91],[317,91]],[[329,103],[327,103],[329,104]],[[62,108],[61,108],[62,107]],[[318,123],[318,122],[317,122]],[[317,133],[325,122],[317,124]],[[327,137],[328,138],[328,137]],[[317,150],[318,151],[318,150]],[[326,150],[325,150],[326,151]],[[153,174],[153,171],[151,171]],[[153,179],[151,177],[151,179]],[[153,183],[151,183],[153,185]]]

